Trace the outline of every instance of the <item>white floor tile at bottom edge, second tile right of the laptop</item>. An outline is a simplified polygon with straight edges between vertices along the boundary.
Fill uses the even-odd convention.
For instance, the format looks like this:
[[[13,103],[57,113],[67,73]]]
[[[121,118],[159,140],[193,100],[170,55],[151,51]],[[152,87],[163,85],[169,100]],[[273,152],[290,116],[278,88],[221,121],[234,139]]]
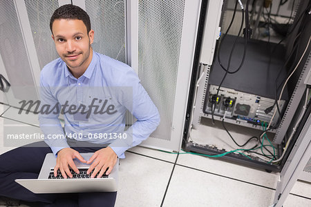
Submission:
[[[163,206],[267,207],[273,196],[274,190],[176,166]]]

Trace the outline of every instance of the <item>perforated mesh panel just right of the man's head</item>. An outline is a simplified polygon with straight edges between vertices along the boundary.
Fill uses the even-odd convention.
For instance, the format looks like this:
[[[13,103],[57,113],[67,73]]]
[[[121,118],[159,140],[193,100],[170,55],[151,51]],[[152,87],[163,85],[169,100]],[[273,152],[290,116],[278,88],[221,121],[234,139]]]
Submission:
[[[85,1],[95,31],[93,49],[126,63],[125,1]]]

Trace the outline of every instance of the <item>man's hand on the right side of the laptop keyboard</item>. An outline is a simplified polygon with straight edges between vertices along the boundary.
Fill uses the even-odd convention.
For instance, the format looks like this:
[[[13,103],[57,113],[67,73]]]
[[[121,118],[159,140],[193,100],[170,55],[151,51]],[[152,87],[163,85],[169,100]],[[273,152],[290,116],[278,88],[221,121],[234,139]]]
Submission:
[[[91,164],[92,161],[93,164]],[[102,148],[100,150],[97,150],[94,155],[86,162],[86,164],[91,164],[90,168],[88,168],[88,171],[86,173],[90,174],[94,169],[91,177],[95,177],[97,172],[100,172],[97,177],[102,177],[106,169],[109,168],[106,172],[106,175],[109,175],[116,162],[117,155],[115,154],[115,152],[110,147]]]

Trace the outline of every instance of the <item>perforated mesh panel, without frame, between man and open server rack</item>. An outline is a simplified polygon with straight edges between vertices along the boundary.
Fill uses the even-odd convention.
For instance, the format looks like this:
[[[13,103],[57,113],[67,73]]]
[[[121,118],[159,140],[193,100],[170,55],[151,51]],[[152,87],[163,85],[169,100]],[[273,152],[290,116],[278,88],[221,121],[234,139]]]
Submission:
[[[139,2],[138,75],[160,112],[151,135],[159,139],[171,139],[184,8],[179,0]]]

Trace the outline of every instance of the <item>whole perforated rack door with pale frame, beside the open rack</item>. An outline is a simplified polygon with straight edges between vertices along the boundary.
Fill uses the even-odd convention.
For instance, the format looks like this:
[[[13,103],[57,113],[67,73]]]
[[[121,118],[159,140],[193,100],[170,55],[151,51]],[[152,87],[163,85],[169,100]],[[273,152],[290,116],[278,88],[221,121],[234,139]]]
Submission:
[[[200,3],[138,1],[138,76],[161,118],[143,146],[180,150]]]

